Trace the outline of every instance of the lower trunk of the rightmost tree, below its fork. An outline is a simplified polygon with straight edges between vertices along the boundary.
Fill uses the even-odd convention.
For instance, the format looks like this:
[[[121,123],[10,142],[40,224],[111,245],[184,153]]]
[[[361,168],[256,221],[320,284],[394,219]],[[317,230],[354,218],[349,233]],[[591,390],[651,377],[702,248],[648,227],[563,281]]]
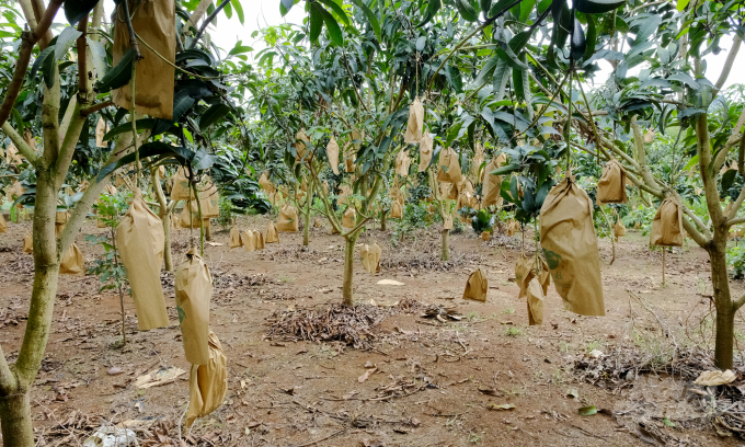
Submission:
[[[714,239],[718,239],[717,234]],[[732,369],[736,312],[730,295],[725,244],[712,243],[709,249],[709,259],[711,261],[711,284],[714,288],[714,306],[717,307],[714,365],[720,369]]]

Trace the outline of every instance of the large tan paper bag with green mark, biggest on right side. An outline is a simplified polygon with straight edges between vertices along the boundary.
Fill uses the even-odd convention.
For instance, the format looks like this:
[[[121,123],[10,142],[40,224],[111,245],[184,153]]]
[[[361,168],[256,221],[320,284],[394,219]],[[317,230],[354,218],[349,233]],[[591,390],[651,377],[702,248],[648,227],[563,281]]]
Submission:
[[[540,209],[540,241],[564,308],[605,316],[593,202],[569,179],[551,188]]]

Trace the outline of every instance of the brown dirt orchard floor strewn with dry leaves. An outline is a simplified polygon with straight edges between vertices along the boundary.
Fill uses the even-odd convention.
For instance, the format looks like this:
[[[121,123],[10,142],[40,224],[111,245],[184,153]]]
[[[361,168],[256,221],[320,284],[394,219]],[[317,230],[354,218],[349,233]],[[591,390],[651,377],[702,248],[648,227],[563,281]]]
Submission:
[[[264,231],[260,216],[240,219],[241,229]],[[394,224],[390,222],[390,227]],[[0,341],[10,359],[21,345],[28,311],[33,260],[21,252],[31,224],[10,224],[0,234]],[[390,231],[367,231],[359,243],[382,247],[377,275],[355,262],[355,298],[391,314],[375,331],[373,349],[341,342],[270,340],[275,312],[341,300],[343,240],[326,228],[313,228],[309,250],[301,233],[280,233],[280,243],[247,253],[228,250],[229,234],[215,228],[219,247],[205,247],[215,290],[211,330],[228,357],[229,392],[224,405],[197,420],[185,445],[226,446],[626,446],[651,443],[638,426],[624,424],[634,392],[653,390],[665,377],[631,378],[608,389],[578,381],[575,358],[616,344],[664,337],[627,290],[665,314],[678,336],[711,347],[701,318],[710,310],[711,283],[706,253],[690,241],[666,255],[650,252],[646,238],[629,231],[611,249],[600,241],[607,317],[578,317],[563,310],[553,286],[540,326],[528,326],[525,300],[518,300],[514,264],[519,233],[483,242],[472,231],[451,236],[452,261],[437,261],[439,232],[431,228],[416,240],[392,247]],[[90,222],[83,232],[100,232]],[[188,230],[174,230],[174,259],[188,245]],[[527,234],[526,240],[530,240]],[[77,238],[87,264],[96,257],[84,233]],[[529,242],[528,245],[531,245]],[[461,299],[466,279],[477,266],[489,278],[485,303]],[[378,285],[394,279],[402,286]],[[127,339],[119,339],[118,296],[99,293],[94,276],[62,275],[59,282],[47,356],[32,392],[38,445],[80,446],[98,426],[125,424],[140,445],[176,445],[177,424],[188,401],[188,369],[175,312],[173,278],[163,274],[171,318],[168,329],[137,331],[131,298],[125,300]],[[733,282],[733,295],[745,291]],[[404,299],[416,308],[387,307]],[[457,306],[461,321],[422,318],[427,305]],[[632,319],[634,317],[634,319]],[[632,330],[632,324],[635,326]],[[745,333],[745,322],[737,326]],[[696,331],[699,331],[697,337]],[[703,336],[701,336],[703,334]],[[134,379],[164,367],[186,371],[177,380],[138,389]],[[111,375],[112,368],[123,373]],[[366,371],[368,374],[364,380]],[[115,371],[115,369],[114,369]],[[675,399],[671,397],[671,399]],[[497,405],[514,409],[500,410]],[[490,405],[493,405],[490,408]],[[584,416],[581,408],[599,412]],[[663,421],[664,417],[664,421]],[[663,422],[669,422],[666,424]],[[708,424],[652,419],[657,432],[679,445],[742,445],[720,437]],[[673,426],[674,425],[674,426]],[[652,439],[654,442],[654,439]],[[175,442],[173,442],[175,443]]]

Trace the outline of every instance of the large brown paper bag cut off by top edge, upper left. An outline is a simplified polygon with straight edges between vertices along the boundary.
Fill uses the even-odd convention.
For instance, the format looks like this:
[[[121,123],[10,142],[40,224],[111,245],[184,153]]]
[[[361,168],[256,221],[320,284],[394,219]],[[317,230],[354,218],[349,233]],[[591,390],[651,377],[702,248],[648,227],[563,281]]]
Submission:
[[[176,19],[173,0],[145,1],[137,3],[129,1],[129,11],[134,14],[131,25],[135,32],[147,42],[160,56],[156,55],[148,45],[139,44],[142,59],[137,62],[135,82],[137,96],[135,98],[138,113],[163,119],[173,118],[173,87],[174,64],[176,55]],[[114,49],[113,62],[116,66],[129,49],[129,32],[127,24],[121,19],[124,7],[116,8],[117,18],[114,19]],[[131,88],[127,83],[112,92],[114,103],[122,108],[131,108]]]

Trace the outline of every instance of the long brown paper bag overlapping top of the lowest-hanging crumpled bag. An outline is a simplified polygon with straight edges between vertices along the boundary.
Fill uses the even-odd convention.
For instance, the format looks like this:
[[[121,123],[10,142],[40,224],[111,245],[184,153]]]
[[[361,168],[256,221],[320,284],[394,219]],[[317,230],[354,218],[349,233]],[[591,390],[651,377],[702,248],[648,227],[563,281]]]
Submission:
[[[194,365],[209,364],[209,300],[213,278],[209,268],[194,249],[176,267],[176,311],[186,360]]]

